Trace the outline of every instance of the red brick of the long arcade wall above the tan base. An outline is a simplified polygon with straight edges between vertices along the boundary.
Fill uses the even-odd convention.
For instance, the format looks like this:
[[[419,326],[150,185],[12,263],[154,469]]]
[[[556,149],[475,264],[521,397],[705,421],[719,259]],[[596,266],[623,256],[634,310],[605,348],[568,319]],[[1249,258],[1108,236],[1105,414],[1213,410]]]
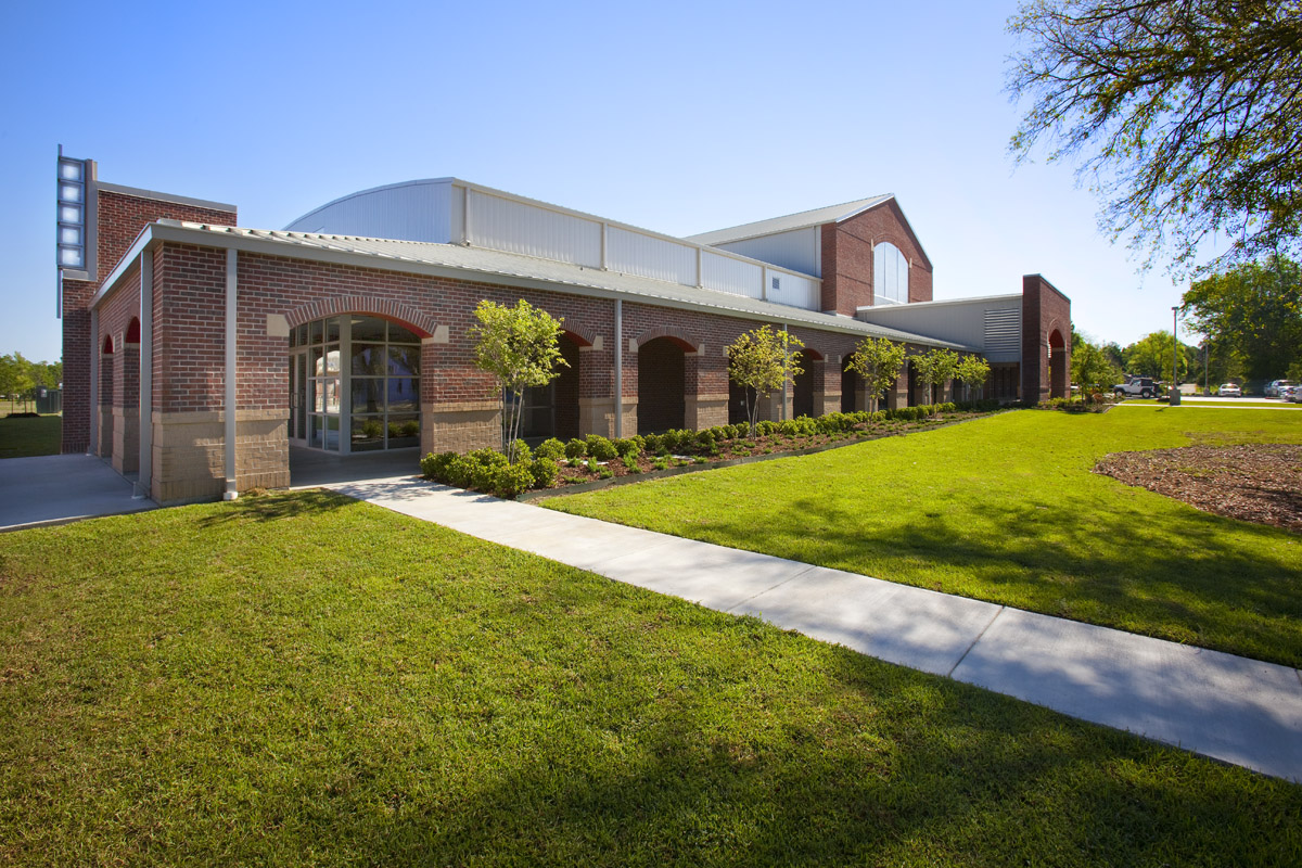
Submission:
[[[164,413],[220,410],[224,402],[224,288],[225,252],[189,245],[161,245],[155,251],[155,409]],[[474,307],[490,298],[531,305],[564,319],[583,341],[602,338],[600,349],[568,353],[578,357],[578,397],[607,398],[613,388],[615,302],[565,293],[514,289],[493,284],[402,275],[355,265],[314,263],[258,254],[238,258],[238,403],[240,409],[284,409],[289,394],[289,341],[267,334],[267,315],[285,316],[297,325],[345,311],[385,315],[426,333],[448,327],[448,342],[427,342],[422,351],[422,402],[469,403],[496,400],[491,377],[474,367]],[[398,315],[401,312],[401,315]],[[417,321],[413,321],[417,320]],[[684,360],[685,393],[727,396],[728,360],[724,347],[760,323],[740,318],[680,311],[650,305],[624,305],[624,394],[638,397],[639,353],[629,340],[650,341],[672,331],[700,357]],[[854,350],[858,337],[793,328],[833,373],[838,359]],[[646,396],[643,396],[646,397]]]

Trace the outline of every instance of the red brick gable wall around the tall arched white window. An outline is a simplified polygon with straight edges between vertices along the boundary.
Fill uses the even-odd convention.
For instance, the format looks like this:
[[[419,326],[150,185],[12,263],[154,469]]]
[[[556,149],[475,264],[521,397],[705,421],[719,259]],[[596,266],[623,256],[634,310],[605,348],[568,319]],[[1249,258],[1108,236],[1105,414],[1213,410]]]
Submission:
[[[854,316],[872,305],[872,246],[888,241],[909,260],[909,301],[931,301],[931,260],[894,199],[823,226],[823,310]]]

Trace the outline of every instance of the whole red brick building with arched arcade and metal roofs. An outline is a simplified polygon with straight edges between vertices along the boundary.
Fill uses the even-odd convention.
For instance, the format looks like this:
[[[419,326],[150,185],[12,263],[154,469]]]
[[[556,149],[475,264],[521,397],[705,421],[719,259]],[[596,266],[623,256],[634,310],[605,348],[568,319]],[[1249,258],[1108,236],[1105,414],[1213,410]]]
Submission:
[[[889,195],[674,238],[437,178],[263,230],[234,206],[100,182],[91,160],[59,167],[62,448],[159,502],[288,485],[298,450],[499,445],[503,397],[467,334],[486,298],[564,321],[569,367],[525,400],[535,437],[738,420],[725,347],[766,323],[799,336],[807,368],[767,418],[865,407],[844,368],[866,336],[986,354],[992,397],[1068,389],[1070,302],[1039,276],[932,301]],[[924,400],[910,367],[885,398]]]

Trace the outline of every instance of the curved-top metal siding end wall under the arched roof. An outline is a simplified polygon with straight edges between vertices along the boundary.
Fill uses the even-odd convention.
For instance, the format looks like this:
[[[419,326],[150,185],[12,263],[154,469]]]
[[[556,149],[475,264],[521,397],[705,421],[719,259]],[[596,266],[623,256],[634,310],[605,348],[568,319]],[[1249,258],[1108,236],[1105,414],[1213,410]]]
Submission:
[[[452,239],[448,219],[450,194],[452,185],[448,182],[368,190],[299,217],[286,229],[447,243]]]

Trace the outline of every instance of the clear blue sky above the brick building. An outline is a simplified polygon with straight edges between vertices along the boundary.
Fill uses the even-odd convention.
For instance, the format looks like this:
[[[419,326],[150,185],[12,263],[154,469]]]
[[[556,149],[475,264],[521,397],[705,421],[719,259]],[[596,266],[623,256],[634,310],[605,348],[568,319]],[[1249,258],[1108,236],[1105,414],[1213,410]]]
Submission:
[[[1039,272],[1077,328],[1170,328],[1184,285],[1016,168],[1014,1],[20,4],[0,8],[0,353],[60,354],[55,155],[281,228],[457,176],[669,234],[894,193],[936,298]]]

